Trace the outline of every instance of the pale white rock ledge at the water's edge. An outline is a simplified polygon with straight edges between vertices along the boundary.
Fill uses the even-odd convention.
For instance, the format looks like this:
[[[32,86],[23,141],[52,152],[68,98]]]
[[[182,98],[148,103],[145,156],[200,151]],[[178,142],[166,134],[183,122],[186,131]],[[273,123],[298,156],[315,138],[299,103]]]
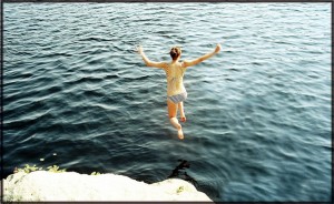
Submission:
[[[16,173],[3,180],[3,201],[206,201],[184,180],[146,184],[122,175],[76,172]]]

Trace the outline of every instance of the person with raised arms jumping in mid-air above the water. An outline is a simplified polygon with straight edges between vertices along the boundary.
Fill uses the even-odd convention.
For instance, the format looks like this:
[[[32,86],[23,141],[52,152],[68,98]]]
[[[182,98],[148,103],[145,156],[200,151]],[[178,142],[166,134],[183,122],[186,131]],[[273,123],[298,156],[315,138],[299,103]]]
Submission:
[[[180,121],[186,122],[184,112],[184,101],[187,99],[187,91],[184,85],[184,74],[186,72],[186,69],[215,55],[220,51],[220,44],[217,44],[213,52],[204,54],[195,60],[185,60],[180,62],[179,59],[181,55],[181,49],[179,47],[174,47],[169,52],[171,57],[170,62],[154,62],[145,55],[141,45],[137,48],[138,53],[141,55],[147,67],[164,69],[166,72],[168,115],[170,123],[177,129],[177,134],[180,140],[184,139],[184,132],[176,116],[177,111],[179,110]]]

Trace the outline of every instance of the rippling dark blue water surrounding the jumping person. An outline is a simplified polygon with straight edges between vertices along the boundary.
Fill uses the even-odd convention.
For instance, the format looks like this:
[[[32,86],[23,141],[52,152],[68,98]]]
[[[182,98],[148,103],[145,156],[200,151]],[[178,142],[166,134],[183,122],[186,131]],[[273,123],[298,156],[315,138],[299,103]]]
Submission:
[[[185,140],[155,61],[189,68]],[[59,165],[154,183],[186,160],[214,201],[330,201],[331,3],[4,3],[4,175]],[[43,159],[43,160],[40,160]]]

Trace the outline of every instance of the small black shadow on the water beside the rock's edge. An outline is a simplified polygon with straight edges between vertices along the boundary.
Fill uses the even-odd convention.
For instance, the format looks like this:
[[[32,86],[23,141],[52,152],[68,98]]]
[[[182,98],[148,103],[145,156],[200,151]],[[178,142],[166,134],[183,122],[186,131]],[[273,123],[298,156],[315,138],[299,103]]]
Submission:
[[[191,177],[185,170],[190,167],[190,163],[186,160],[178,160],[180,162],[168,176],[168,178],[180,178],[190,182],[195,187],[198,187],[197,181]]]

